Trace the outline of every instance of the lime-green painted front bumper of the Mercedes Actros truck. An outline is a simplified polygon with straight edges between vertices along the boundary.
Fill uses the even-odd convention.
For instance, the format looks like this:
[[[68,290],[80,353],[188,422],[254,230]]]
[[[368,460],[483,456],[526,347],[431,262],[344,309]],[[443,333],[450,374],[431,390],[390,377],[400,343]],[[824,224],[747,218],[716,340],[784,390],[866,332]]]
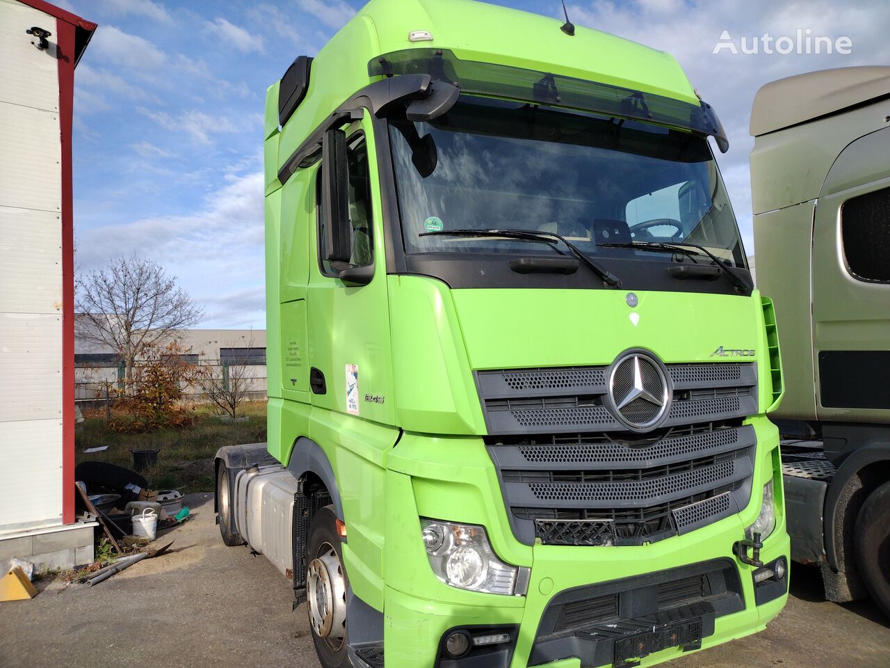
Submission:
[[[751,423],[756,427],[758,442],[754,489],[760,489],[770,477],[775,478],[773,459],[777,453],[773,449],[778,447],[778,433],[767,420],[754,419]],[[740,588],[740,609],[715,615],[713,633],[701,639],[701,648],[760,631],[785,604],[788,575],[785,576],[785,593],[758,606],[752,578],[756,568],[742,564],[732,553],[733,543],[744,537],[744,527],[753,523],[759,513],[759,494],[751,495],[748,507],[739,515],[726,517],[690,534],[648,545],[579,547],[537,544],[530,547],[514,539],[497,478],[490,461],[486,461],[487,455],[483,453],[485,459],[477,459],[473,450],[479,448],[464,448],[457,440],[433,444],[435,449],[430,450],[426,447],[429,443],[421,444],[420,441],[439,439],[415,438],[417,443],[413,445],[410,438],[402,440],[399,448],[404,459],[389,462],[391,468],[387,472],[389,522],[384,543],[384,650],[388,668],[469,668],[474,664],[465,661],[450,663],[438,658],[446,631],[456,627],[514,625],[518,626],[518,635],[509,654],[509,663],[505,660],[499,665],[521,668],[542,664],[541,659],[546,656],[551,662],[546,664],[549,668],[580,666],[577,656],[541,652],[539,647],[536,651],[542,620],[555,597],[561,592],[596,583],[617,583],[617,591],[633,589],[641,575],[670,573],[691,564],[719,560],[732,566],[738,574]],[[406,444],[408,447],[403,448]],[[439,460],[431,462],[427,457],[422,465],[413,465],[411,461],[417,460],[411,455],[419,455],[421,450],[426,455],[435,452],[433,460]],[[401,473],[392,469],[393,464],[398,466],[400,463]],[[789,557],[783,499],[781,494],[776,496],[777,525],[760,552],[765,563]],[[500,558],[516,566],[531,567],[528,594],[506,597],[460,591],[436,580],[419,540],[417,518],[421,516],[485,525],[492,547]],[[639,612],[644,612],[643,608]],[[709,630],[708,626],[706,631]],[[683,651],[682,648],[654,651],[643,657],[640,665],[658,664]],[[589,653],[587,656],[589,662]],[[488,663],[486,666],[496,668],[498,664]]]

